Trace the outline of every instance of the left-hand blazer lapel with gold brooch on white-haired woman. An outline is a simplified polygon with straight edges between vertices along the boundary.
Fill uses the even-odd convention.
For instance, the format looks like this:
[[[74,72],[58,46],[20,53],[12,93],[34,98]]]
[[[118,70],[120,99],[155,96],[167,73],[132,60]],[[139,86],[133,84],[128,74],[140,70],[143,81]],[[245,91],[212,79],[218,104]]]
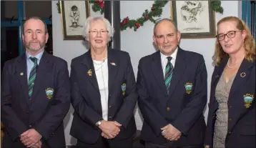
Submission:
[[[99,92],[99,85],[97,82],[97,77],[95,74],[95,69],[94,69],[94,64],[92,62],[92,56],[91,56],[91,51],[87,51],[86,54],[84,54],[84,60],[82,61],[82,64],[84,64],[86,67],[85,69],[81,69],[81,71],[84,71],[84,75],[85,77],[87,77],[87,79],[89,80],[89,82],[92,83],[92,86],[95,87],[95,89],[97,89],[97,91]]]

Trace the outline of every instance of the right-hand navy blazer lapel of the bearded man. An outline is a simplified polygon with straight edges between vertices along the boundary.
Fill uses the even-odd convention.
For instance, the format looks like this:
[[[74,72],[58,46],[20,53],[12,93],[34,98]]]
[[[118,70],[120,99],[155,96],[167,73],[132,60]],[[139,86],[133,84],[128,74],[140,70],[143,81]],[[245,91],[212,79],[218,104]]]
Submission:
[[[49,62],[49,54],[44,51],[44,54],[41,56],[37,71],[36,71],[36,79],[34,82],[34,89],[33,94],[31,96],[31,102],[34,102],[36,99],[36,94],[39,92],[40,89],[46,89],[41,88],[41,86],[44,86],[45,77],[47,76],[47,73],[52,70],[51,64]]]

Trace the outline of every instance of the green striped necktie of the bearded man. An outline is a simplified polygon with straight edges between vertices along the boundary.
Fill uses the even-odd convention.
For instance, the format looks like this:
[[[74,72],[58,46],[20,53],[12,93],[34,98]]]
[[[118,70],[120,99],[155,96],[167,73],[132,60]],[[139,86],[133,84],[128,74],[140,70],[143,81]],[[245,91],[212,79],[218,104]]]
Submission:
[[[33,87],[34,87],[34,80],[36,79],[36,69],[37,69],[37,59],[36,57],[30,57],[31,61],[33,61],[34,66],[32,67],[30,74],[29,74],[29,98],[31,98],[31,95],[33,93]]]

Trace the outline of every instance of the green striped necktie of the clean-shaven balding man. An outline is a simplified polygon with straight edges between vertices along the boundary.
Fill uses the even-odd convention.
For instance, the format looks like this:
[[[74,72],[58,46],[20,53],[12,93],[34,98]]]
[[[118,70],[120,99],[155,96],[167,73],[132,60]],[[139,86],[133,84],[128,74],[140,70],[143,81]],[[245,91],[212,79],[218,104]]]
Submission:
[[[167,65],[165,66],[165,74],[164,74],[164,84],[166,86],[167,89],[167,94],[169,95],[169,86],[171,84],[171,79],[172,79],[172,72],[173,72],[173,66],[171,63],[172,57],[169,56],[167,57],[168,62]]]

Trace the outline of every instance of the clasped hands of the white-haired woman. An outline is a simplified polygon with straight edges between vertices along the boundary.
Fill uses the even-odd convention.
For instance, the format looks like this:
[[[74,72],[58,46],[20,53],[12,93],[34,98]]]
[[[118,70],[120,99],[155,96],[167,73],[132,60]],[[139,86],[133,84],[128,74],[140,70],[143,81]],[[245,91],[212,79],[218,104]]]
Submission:
[[[120,127],[122,124],[112,121],[102,121],[99,125],[99,129],[102,129],[102,137],[106,139],[113,139],[120,132]]]

